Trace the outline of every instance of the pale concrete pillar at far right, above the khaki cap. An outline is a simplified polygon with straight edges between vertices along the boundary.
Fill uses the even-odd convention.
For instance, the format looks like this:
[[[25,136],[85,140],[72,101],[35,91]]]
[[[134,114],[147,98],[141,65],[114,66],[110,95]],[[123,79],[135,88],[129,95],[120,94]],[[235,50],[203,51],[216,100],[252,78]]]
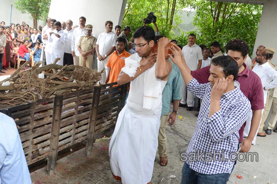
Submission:
[[[252,59],[255,58],[255,51],[259,45],[273,47],[277,50],[277,1],[267,0],[263,4],[259,29],[255,41]],[[277,64],[277,53],[273,56],[273,62]]]

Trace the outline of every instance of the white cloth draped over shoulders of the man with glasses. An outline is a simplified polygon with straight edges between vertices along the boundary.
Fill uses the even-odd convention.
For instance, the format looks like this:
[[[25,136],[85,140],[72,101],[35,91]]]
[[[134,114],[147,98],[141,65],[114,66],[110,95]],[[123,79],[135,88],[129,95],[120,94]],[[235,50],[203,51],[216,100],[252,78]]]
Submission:
[[[136,70],[140,66],[139,62],[142,58],[139,57],[137,53],[131,55],[125,59],[125,67],[121,70],[134,77]],[[155,66],[149,68],[144,72],[144,82],[143,82],[143,109],[145,110],[155,110],[158,106],[158,97],[161,94],[161,79],[157,79],[155,76]]]

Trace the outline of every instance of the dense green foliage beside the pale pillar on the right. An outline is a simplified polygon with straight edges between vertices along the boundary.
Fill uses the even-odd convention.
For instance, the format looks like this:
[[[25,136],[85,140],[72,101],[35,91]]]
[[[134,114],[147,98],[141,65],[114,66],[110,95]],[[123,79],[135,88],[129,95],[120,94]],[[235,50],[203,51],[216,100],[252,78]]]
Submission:
[[[196,9],[197,44],[209,47],[216,40],[225,51],[229,40],[243,39],[249,45],[249,56],[252,55],[262,6],[211,1],[196,1],[191,6]]]

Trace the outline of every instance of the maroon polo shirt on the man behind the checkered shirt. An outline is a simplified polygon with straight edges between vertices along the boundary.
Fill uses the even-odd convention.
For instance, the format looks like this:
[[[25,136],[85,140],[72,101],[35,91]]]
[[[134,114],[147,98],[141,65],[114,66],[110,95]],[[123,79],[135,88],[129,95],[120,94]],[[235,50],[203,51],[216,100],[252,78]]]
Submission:
[[[243,63],[245,69],[238,74],[236,81],[240,84],[240,90],[248,98],[251,103],[252,110],[263,109],[263,86],[262,81],[257,74],[249,70],[245,63]],[[200,70],[191,71],[191,75],[200,83],[205,84],[210,76],[211,66],[201,68]],[[243,141],[243,131],[246,122],[239,130],[239,142]]]

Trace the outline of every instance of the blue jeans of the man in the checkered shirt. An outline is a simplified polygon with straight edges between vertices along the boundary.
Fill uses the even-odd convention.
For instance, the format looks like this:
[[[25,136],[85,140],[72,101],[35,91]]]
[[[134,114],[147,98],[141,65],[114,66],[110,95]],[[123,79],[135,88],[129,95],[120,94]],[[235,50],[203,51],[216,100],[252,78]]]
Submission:
[[[226,184],[229,175],[229,173],[201,174],[184,163],[181,184]]]

